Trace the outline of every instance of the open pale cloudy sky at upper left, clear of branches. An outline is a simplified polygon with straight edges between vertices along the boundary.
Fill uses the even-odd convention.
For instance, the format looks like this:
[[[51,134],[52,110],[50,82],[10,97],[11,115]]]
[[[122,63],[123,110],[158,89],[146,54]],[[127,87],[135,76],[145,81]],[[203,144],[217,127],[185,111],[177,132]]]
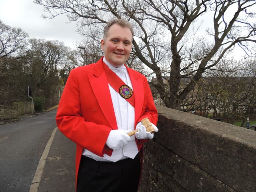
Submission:
[[[54,19],[43,19],[43,6],[33,0],[0,0],[0,20],[11,27],[19,27],[30,38],[63,41],[74,49],[82,37],[75,31],[76,23],[66,23],[67,17],[60,15]]]

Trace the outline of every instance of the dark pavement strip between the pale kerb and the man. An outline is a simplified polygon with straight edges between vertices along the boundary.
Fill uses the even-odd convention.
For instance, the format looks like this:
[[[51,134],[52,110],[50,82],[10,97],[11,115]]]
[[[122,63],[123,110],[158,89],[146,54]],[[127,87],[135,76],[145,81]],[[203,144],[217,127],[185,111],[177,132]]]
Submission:
[[[38,192],[75,192],[75,153],[76,144],[57,129],[45,161]]]

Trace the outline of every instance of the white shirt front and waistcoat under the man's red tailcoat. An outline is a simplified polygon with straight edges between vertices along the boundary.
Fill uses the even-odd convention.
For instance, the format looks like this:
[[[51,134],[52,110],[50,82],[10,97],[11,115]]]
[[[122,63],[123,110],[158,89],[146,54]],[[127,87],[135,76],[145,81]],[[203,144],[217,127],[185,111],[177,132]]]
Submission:
[[[105,57],[103,58],[103,61],[109,66],[109,68],[113,72],[116,73],[116,75],[120,79],[122,79],[122,81],[126,85],[128,85],[133,90],[129,74],[124,65],[120,67],[114,67],[105,59]],[[108,84],[108,86],[109,86],[111,99],[112,99],[112,103],[115,111],[116,123],[117,123],[118,129],[134,130],[134,121],[135,121],[134,107],[128,101],[126,101],[118,92],[116,92],[110,86],[110,84]],[[83,150],[83,155],[90,157],[96,161],[113,161],[113,162],[116,162],[121,159],[126,159],[126,158],[134,159],[137,153],[138,153],[138,147],[135,142],[135,135],[131,137],[131,140],[123,148],[120,148],[119,150],[114,150],[111,156],[104,154],[103,157],[100,157],[90,152],[87,149]]]

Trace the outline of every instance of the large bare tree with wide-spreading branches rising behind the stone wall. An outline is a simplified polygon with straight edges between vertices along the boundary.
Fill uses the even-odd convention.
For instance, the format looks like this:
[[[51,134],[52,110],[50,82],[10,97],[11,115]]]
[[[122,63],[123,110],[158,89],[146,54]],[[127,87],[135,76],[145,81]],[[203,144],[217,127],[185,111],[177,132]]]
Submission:
[[[67,14],[85,36],[99,34],[111,18],[125,18],[135,27],[134,55],[154,71],[153,85],[166,107],[180,109],[207,69],[214,68],[235,45],[255,54],[254,0],[34,0],[54,18]],[[230,13],[231,14],[228,14]],[[212,15],[208,38],[188,43],[193,23]],[[232,15],[227,17],[227,15]],[[99,39],[100,36],[93,36]],[[181,91],[181,78],[190,82]],[[169,89],[165,89],[167,79]]]

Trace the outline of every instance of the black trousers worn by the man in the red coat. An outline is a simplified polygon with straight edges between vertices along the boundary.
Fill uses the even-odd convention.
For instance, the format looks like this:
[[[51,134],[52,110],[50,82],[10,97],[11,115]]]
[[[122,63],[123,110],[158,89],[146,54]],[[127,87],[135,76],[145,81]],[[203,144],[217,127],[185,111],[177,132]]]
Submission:
[[[134,159],[95,161],[82,155],[77,192],[136,192],[140,177],[139,153]]]

